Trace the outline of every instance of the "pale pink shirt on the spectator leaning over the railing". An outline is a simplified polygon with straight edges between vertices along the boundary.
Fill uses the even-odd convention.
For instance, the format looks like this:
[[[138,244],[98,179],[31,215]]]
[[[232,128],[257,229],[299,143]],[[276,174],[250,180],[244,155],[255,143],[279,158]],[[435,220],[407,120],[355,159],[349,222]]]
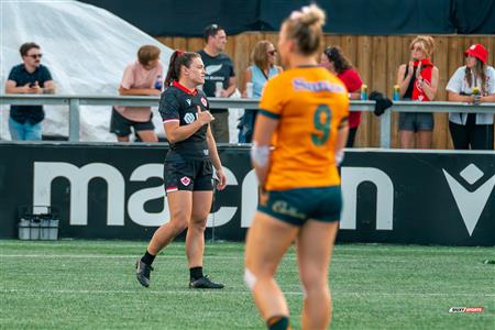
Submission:
[[[158,65],[151,70],[146,70],[139,62],[135,62],[125,67],[120,86],[125,89],[155,88],[158,76],[163,84],[162,62],[158,62]],[[150,107],[116,106],[114,108],[120,114],[132,121],[146,122],[151,117]]]

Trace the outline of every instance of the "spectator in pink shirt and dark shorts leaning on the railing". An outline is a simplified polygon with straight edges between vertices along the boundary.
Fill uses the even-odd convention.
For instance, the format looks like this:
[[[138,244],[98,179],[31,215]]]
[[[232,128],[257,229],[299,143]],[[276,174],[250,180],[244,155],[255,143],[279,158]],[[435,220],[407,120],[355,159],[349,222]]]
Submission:
[[[138,61],[125,67],[119,94],[121,96],[158,96],[163,89],[163,65],[160,48],[144,45],[138,51]],[[143,142],[157,142],[150,107],[114,106],[110,120],[110,132],[119,142],[129,142],[131,128]]]

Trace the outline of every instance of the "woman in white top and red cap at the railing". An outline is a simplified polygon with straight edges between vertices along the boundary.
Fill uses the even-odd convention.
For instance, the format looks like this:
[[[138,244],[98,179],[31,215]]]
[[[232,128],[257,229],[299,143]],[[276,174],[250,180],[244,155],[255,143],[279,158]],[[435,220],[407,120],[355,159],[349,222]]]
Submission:
[[[495,69],[486,65],[488,52],[481,44],[465,51],[461,66],[447,85],[449,101],[495,102]],[[480,91],[479,95],[473,89]],[[449,129],[457,150],[493,150],[493,114],[450,113]]]

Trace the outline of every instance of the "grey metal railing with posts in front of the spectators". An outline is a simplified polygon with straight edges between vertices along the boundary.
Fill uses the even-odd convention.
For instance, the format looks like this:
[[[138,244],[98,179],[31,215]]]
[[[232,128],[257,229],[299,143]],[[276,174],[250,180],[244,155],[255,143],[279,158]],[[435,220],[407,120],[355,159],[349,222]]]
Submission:
[[[1,105],[16,106],[68,106],[69,141],[79,141],[80,106],[139,106],[157,107],[160,97],[147,96],[85,96],[85,95],[0,95]],[[257,109],[258,99],[210,98],[211,108]],[[351,111],[373,111],[375,101],[351,101]],[[380,145],[391,147],[392,112],[457,112],[457,113],[494,113],[495,103],[479,106],[464,102],[414,102],[395,101],[392,109],[381,117]]]

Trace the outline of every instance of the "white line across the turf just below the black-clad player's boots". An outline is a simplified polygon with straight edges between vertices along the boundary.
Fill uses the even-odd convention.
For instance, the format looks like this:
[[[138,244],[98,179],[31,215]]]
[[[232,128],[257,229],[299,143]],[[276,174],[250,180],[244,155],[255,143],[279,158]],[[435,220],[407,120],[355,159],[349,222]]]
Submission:
[[[196,294],[219,294],[219,295],[251,295],[249,290],[86,290],[86,289],[0,289],[2,294],[58,294],[58,295],[136,295],[141,293],[150,295],[196,295]],[[285,295],[302,296],[302,292],[284,292]],[[495,294],[444,294],[444,293],[373,293],[373,292],[336,292],[332,290],[332,295],[336,296],[384,296],[384,297],[495,297]]]

